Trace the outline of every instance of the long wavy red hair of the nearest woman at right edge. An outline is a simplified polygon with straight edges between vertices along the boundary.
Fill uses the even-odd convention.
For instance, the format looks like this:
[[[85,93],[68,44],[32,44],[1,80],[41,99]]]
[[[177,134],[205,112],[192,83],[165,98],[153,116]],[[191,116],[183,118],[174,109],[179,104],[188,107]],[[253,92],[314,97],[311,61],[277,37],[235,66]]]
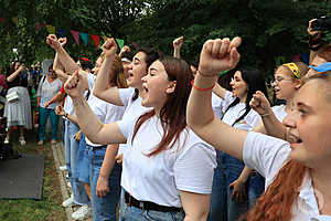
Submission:
[[[323,80],[327,84],[331,82],[331,72],[316,74],[305,80]],[[303,83],[305,83],[303,82]],[[328,87],[328,86],[327,86]],[[325,99],[331,102],[331,87],[328,90]],[[295,160],[289,160],[277,173],[267,190],[257,200],[255,207],[248,212],[247,221],[289,221],[292,218],[292,206],[300,193],[300,187],[309,168]]]

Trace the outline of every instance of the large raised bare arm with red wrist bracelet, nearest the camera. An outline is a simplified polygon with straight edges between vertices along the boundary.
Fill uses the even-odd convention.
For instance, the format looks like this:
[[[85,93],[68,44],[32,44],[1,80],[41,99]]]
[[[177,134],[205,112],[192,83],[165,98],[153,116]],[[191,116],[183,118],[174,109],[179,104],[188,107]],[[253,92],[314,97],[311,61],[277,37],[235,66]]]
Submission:
[[[212,88],[221,71],[234,69],[239,61],[241,39],[209,40],[200,55],[199,72],[188,103],[188,125],[205,141],[238,159],[247,131],[232,128],[215,118],[212,108]]]

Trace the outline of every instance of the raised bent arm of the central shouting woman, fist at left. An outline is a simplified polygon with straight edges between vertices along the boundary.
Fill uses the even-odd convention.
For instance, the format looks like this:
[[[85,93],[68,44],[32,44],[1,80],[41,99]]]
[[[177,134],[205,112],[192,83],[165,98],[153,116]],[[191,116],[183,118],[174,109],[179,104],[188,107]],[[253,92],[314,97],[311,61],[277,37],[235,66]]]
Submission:
[[[95,144],[122,144],[126,138],[121,134],[116,123],[103,124],[92,112],[85,97],[83,96],[84,82],[87,81],[79,72],[75,72],[65,83],[64,87],[72,97],[78,125],[84,135]]]

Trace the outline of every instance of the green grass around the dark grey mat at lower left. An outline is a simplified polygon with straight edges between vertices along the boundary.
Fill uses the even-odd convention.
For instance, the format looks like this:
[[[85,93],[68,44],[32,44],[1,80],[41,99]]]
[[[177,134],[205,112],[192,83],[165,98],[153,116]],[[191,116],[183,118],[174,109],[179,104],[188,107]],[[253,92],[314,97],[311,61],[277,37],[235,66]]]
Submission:
[[[13,133],[12,140],[18,140],[18,131]],[[42,200],[4,200],[0,199],[1,221],[62,221],[66,220],[65,210],[61,207],[62,194],[57,171],[54,165],[50,140],[45,145],[36,146],[35,131],[25,135],[26,145],[13,146],[22,154],[40,154],[45,156],[43,196]],[[0,175],[1,176],[1,175]]]

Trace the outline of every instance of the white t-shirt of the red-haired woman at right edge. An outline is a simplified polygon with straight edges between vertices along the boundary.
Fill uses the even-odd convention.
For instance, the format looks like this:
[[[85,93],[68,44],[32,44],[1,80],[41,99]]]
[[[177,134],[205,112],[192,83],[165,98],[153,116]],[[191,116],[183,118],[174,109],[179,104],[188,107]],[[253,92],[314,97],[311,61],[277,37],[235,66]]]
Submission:
[[[288,161],[291,151],[289,143],[263,135],[248,133],[243,150],[243,159],[247,167],[256,169],[266,178],[266,189],[275,176]],[[309,173],[300,187],[300,193],[293,204],[292,221],[331,220],[330,215],[320,215],[317,199]]]

